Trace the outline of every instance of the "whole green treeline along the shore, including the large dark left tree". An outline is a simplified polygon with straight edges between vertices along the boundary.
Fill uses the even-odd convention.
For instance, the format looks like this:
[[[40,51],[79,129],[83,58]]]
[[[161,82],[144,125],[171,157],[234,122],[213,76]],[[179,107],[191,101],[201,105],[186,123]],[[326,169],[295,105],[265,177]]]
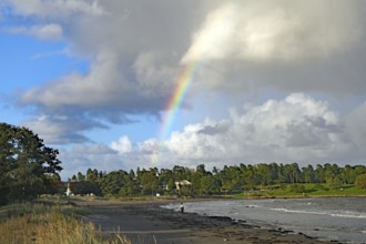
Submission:
[[[94,194],[101,196],[211,195],[285,189],[304,192],[314,187],[340,189],[356,185],[366,189],[366,166],[326,163],[299,167],[297,163],[260,163],[255,165],[196,169],[140,169],[102,172],[89,169],[62,182],[59,151],[27,128],[0,123],[0,205],[37,199],[42,194]],[[67,186],[68,190],[67,191]],[[71,191],[71,192],[70,192]]]

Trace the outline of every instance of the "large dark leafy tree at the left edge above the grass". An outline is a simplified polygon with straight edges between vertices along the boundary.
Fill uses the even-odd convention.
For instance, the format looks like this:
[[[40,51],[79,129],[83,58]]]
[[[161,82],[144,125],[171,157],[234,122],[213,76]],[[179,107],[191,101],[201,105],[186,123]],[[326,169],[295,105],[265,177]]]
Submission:
[[[1,203],[47,193],[50,177],[62,170],[58,154],[29,129],[0,123]]]

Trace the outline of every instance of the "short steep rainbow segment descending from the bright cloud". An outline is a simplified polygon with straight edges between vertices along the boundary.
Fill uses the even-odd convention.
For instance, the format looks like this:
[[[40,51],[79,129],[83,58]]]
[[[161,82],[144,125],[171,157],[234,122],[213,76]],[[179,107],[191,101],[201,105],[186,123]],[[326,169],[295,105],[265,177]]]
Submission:
[[[163,119],[163,125],[160,131],[161,141],[166,139],[167,134],[170,133],[170,131],[172,129],[174,119],[175,119],[177,111],[182,104],[182,101],[186,94],[186,91],[189,90],[189,88],[192,83],[196,69],[197,69],[196,62],[191,62],[184,67],[182,73],[179,75],[174,92],[172,93],[172,95],[167,102],[167,105],[165,108],[166,113]]]

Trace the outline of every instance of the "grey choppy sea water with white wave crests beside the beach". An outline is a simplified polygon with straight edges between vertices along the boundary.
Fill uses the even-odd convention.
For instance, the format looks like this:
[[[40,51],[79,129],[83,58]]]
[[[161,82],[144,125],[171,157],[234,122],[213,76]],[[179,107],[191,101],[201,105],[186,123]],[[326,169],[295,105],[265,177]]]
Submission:
[[[264,228],[302,232],[321,240],[366,243],[366,197],[187,202],[185,212],[228,216]],[[179,210],[179,205],[164,207]]]

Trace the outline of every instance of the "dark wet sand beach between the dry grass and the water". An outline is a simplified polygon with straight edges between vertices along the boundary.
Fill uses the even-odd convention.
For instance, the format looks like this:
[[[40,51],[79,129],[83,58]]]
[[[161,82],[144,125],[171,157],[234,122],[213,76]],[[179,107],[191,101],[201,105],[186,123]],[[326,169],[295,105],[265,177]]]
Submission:
[[[179,202],[119,202],[78,201],[90,214],[83,221],[92,222],[105,235],[121,233],[132,243],[217,244],[217,243],[335,243],[321,241],[302,233],[282,228],[262,228],[245,221],[224,216],[202,216],[160,207]]]

